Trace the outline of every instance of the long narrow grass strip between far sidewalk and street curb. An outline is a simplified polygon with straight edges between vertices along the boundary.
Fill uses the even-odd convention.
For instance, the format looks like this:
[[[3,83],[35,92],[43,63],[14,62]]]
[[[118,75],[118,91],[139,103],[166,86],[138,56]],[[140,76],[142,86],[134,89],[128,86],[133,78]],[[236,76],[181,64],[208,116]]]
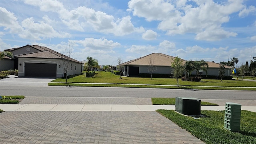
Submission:
[[[49,82],[48,86],[88,86],[88,87],[122,87],[122,88],[168,88],[188,90],[256,90],[256,88],[219,88],[219,87],[197,87],[197,86],[149,86],[149,85],[122,85],[122,84],[75,84],[64,82]]]

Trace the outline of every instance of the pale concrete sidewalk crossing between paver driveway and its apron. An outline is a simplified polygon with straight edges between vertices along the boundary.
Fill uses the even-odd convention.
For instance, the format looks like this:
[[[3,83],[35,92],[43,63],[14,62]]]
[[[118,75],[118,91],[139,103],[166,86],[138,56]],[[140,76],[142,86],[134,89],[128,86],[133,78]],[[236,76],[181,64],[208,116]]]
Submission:
[[[175,110],[175,106],[130,104],[0,104],[4,111],[156,111]],[[242,106],[242,110],[256,112],[256,106]],[[201,110],[225,110],[225,106],[201,106]]]

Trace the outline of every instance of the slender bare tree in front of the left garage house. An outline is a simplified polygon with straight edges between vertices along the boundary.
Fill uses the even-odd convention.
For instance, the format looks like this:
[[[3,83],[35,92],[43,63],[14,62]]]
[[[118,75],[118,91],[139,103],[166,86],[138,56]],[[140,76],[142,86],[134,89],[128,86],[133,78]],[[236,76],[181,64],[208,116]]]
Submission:
[[[66,55],[62,55],[62,67],[63,67],[63,71],[66,74],[66,84],[67,84],[67,80],[68,80],[68,72],[70,72],[71,70],[71,64],[70,64],[70,57],[72,54],[72,50],[73,48],[68,45],[68,47],[65,48],[65,54]]]

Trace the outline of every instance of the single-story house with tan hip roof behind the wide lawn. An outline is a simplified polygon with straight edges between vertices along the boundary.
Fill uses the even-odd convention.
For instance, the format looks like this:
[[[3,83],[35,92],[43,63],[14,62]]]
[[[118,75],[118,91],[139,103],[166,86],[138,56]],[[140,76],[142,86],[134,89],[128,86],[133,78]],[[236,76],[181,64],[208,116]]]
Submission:
[[[143,56],[134,60],[130,60],[128,62],[124,62],[121,64],[122,72],[124,72],[124,76],[130,77],[138,77],[140,73],[150,73],[148,72],[150,66],[150,59],[152,60],[152,65],[156,67],[156,70],[152,72],[153,74],[171,74],[172,67],[171,64],[173,62],[172,59],[175,57],[168,56],[166,54],[161,53],[152,53],[147,56]],[[185,64],[186,60],[182,60],[182,64]],[[215,62],[207,62],[209,68],[207,70],[207,75],[218,76],[218,70],[220,68],[218,63]],[[225,66],[225,76],[230,76],[230,70],[232,67]],[[192,75],[195,75],[196,71],[192,72]],[[206,72],[200,71],[200,74],[206,75]]]

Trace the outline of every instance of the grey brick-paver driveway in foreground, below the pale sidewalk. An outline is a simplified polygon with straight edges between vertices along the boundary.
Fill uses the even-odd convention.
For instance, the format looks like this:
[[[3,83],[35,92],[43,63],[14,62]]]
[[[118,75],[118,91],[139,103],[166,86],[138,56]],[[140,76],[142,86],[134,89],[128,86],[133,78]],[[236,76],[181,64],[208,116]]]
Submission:
[[[199,144],[157,112],[4,112],[0,143]]]

